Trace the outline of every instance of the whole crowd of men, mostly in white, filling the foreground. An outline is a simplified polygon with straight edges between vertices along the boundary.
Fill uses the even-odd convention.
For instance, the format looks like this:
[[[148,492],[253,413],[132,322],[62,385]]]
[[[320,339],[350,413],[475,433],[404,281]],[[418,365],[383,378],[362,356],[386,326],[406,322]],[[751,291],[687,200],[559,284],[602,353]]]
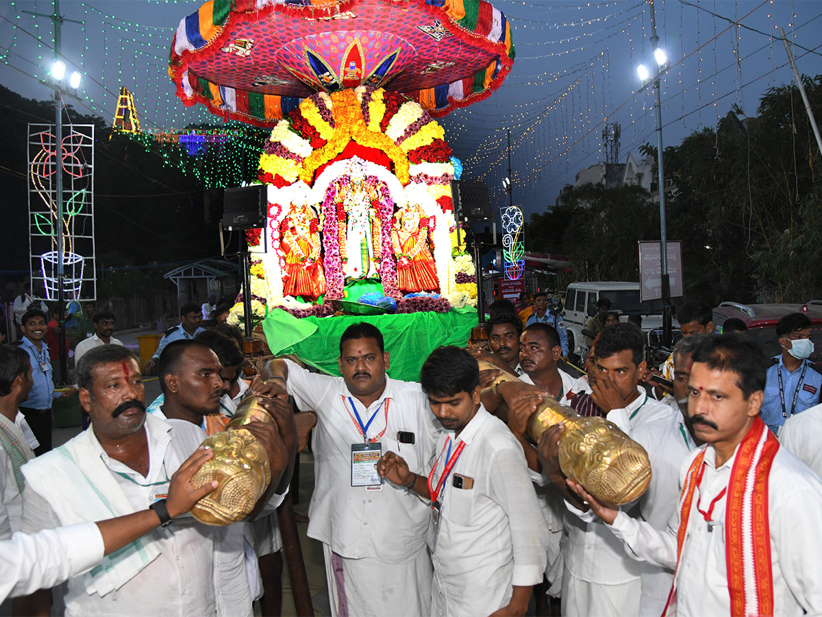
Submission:
[[[744,333],[714,334],[691,301],[658,370],[640,327],[603,303],[589,370],[571,374],[561,314],[535,300],[527,315],[492,305],[487,347],[437,348],[418,382],[390,378],[382,332],[358,322],[340,337],[339,377],[275,359],[246,383],[242,338],[202,331],[205,306],[185,306],[147,367],[162,389],[150,405],[144,367],[99,319],[76,366],[90,429],[37,457],[38,406],[25,403],[50,378],[46,324],[25,313],[24,345],[0,347],[0,596],[29,594],[20,615],[252,615],[279,591],[273,517],[298,409],[318,418],[307,534],[332,615],[524,615],[532,597],[538,615],[822,613],[810,320],[783,318],[769,361]],[[247,424],[269,489],[246,521],[204,526],[185,515],[211,488],[188,483],[210,457],[198,446],[249,393],[275,419]],[[640,443],[652,470],[640,499],[616,508],[569,480],[564,423],[529,441],[543,397]]]

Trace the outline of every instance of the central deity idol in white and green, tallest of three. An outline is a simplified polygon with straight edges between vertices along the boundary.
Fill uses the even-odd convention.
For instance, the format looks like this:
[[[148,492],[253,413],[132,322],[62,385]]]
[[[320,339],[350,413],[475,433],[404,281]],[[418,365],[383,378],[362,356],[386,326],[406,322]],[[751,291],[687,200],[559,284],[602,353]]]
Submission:
[[[366,181],[363,165],[351,165],[349,179],[343,197],[348,223],[345,242],[339,244],[339,256],[344,263],[346,278],[375,278],[380,270],[382,254],[380,218],[374,207],[378,196]],[[340,232],[342,237],[342,230]]]

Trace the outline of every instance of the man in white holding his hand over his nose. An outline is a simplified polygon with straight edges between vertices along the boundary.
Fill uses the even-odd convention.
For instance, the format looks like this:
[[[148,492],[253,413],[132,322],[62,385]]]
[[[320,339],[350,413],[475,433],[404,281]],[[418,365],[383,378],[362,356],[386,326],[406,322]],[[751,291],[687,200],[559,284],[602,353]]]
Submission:
[[[607,420],[632,435],[642,424],[669,417],[671,408],[649,398],[639,383],[644,374],[644,339],[630,323],[617,323],[600,334],[594,347],[595,368],[589,373],[591,397]],[[553,452],[543,461],[543,473],[569,503],[584,509],[570,494],[557,458],[556,441],[561,424],[549,429]],[[624,550],[602,522],[582,521],[566,511],[568,542],[562,577],[564,615],[637,615],[640,612],[641,568],[627,559]]]

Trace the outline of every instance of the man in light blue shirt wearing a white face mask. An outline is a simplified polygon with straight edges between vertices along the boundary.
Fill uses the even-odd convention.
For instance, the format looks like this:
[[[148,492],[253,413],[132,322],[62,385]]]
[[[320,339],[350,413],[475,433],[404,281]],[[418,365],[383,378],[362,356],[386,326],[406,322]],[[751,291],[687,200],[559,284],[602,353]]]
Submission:
[[[785,315],[776,324],[782,355],[768,369],[762,403],[762,420],[778,434],[786,418],[820,402],[822,374],[808,361],[814,352],[810,318],[802,313]]]

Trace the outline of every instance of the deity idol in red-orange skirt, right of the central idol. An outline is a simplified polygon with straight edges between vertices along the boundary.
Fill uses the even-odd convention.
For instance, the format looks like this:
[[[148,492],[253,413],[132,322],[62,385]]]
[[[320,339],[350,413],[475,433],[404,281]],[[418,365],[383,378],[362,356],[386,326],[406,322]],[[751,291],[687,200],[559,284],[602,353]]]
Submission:
[[[391,225],[391,247],[397,257],[399,289],[404,291],[437,291],[436,264],[428,248],[429,232],[436,220],[423,216],[418,205],[405,206]]]

